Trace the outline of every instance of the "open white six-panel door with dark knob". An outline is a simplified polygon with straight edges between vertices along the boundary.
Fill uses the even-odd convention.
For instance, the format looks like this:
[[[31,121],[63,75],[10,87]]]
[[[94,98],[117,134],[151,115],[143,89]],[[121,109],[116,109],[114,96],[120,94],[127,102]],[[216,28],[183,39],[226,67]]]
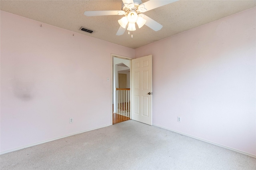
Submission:
[[[132,59],[132,119],[152,125],[152,55]]]

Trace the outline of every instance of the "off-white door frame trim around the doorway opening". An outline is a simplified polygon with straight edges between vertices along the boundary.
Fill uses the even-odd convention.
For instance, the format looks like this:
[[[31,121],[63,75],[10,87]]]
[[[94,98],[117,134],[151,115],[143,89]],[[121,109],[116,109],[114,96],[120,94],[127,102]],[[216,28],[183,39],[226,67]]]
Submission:
[[[113,95],[114,95],[114,91],[113,91],[113,59],[114,57],[120,58],[120,59],[129,59],[132,62],[132,59],[134,58],[130,58],[130,57],[125,57],[122,55],[116,55],[116,54],[112,54],[110,56],[110,60],[111,60],[111,125],[113,125],[113,110],[112,110],[112,105],[113,105]],[[130,68],[130,73],[132,73],[132,67]],[[132,76],[130,74],[130,84],[132,83]],[[130,88],[130,95],[132,94],[132,89]],[[132,108],[132,99],[130,98],[130,108]],[[130,114],[130,119],[132,119],[132,114]]]

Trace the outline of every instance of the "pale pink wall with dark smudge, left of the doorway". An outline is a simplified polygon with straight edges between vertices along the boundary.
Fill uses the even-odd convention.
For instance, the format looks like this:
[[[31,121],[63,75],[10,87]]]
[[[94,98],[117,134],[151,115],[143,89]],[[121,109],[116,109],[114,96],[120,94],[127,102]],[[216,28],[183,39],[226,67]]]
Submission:
[[[134,49],[1,11],[1,153],[110,125],[111,53],[134,57]]]

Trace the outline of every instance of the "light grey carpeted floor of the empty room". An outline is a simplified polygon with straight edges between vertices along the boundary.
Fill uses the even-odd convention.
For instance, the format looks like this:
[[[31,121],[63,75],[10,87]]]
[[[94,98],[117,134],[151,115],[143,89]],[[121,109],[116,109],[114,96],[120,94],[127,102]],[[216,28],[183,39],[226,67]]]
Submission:
[[[0,156],[1,170],[256,169],[256,159],[126,121]]]

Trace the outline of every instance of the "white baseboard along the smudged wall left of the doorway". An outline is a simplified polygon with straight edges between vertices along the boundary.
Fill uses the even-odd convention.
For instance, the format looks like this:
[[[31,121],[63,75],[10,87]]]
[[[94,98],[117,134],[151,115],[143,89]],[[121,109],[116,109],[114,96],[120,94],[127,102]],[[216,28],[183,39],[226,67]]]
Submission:
[[[51,142],[51,141],[54,141],[54,140],[66,138],[66,137],[69,137],[69,136],[73,136],[73,135],[75,135],[75,134],[80,134],[80,133],[88,132],[88,131],[91,131],[91,130],[96,130],[96,129],[99,129],[99,128],[108,127],[108,126],[111,126],[111,125],[106,125],[106,126],[102,126],[102,127],[98,127],[98,128],[92,128],[92,129],[89,129],[89,130],[85,130],[85,131],[82,131],[82,132],[69,134],[69,135],[66,135],[66,136],[59,137],[59,138],[54,138],[54,139],[46,140],[46,141],[43,141],[43,142],[39,142],[39,143],[35,143],[35,144],[30,144],[30,145],[26,145],[26,146],[22,146],[22,147],[20,147],[20,148],[16,148],[16,149],[12,149],[12,150],[7,150],[7,151],[5,151],[5,152],[1,152],[0,155],[2,155],[2,154],[7,154],[7,153],[9,153],[9,152],[14,152],[14,151],[21,150],[21,149],[25,149],[25,148],[29,148],[29,147],[31,147],[31,146],[36,146],[36,145],[38,145],[38,144],[43,144],[43,143]]]

